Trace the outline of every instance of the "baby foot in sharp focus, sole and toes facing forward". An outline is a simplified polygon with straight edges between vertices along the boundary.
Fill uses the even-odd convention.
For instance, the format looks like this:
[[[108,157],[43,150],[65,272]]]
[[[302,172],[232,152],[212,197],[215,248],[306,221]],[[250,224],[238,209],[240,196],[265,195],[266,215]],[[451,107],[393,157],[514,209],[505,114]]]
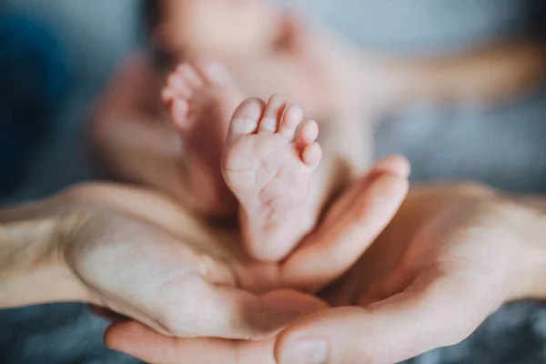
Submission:
[[[322,155],[319,126],[279,96],[268,105],[248,99],[231,119],[222,172],[240,204],[243,238],[252,258],[278,261],[312,227],[310,179]]]

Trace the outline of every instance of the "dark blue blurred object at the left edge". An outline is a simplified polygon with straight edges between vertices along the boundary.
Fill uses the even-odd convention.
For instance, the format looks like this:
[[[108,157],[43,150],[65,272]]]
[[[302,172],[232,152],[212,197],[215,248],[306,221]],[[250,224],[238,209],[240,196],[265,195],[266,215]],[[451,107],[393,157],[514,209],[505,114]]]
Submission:
[[[0,39],[0,196],[5,196],[54,127],[68,67],[56,36],[31,17],[0,12]]]

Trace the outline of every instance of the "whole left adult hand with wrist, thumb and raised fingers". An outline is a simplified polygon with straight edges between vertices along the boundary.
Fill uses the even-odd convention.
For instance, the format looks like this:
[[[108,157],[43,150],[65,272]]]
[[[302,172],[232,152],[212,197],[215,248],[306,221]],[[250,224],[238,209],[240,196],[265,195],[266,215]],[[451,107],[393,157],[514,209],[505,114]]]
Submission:
[[[135,319],[166,338],[266,339],[303,313],[325,308],[319,298],[289,288],[311,291],[342,275],[396,213],[408,174],[403,158],[379,163],[369,177],[355,182],[359,198],[351,197],[352,224],[339,224],[327,214],[325,223],[338,232],[339,241],[318,229],[281,264],[250,261],[237,232],[212,228],[167,197],[115,185],[73,187],[2,212],[0,257],[15,264],[2,266],[1,307],[76,300]],[[379,211],[378,198],[386,202]],[[339,204],[347,204],[346,197],[332,214]],[[42,231],[37,228],[42,222],[51,226]],[[354,229],[367,236],[344,240],[344,233]],[[17,236],[25,230],[38,238]],[[23,243],[30,248],[20,249]],[[338,254],[328,266],[318,264],[341,245],[345,256]],[[315,275],[313,281],[305,279]],[[124,326],[112,332],[107,343],[116,342]]]

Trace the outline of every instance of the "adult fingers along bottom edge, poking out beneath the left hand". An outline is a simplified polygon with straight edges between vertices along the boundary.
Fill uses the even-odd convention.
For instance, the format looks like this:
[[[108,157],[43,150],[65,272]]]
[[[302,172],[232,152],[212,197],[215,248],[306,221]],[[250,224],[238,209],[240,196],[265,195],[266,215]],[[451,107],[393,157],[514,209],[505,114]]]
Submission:
[[[106,331],[106,346],[151,364],[276,364],[274,339],[177,339],[136,323],[116,324]]]

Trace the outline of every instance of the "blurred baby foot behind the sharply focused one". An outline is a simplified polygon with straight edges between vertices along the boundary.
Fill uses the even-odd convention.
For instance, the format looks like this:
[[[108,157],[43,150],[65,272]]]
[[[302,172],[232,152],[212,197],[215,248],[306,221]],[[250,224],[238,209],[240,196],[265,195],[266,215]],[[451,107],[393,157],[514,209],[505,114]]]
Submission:
[[[220,171],[227,126],[244,99],[226,69],[205,58],[179,66],[162,93],[187,157],[180,173],[192,207],[209,215],[235,211],[237,201]]]

